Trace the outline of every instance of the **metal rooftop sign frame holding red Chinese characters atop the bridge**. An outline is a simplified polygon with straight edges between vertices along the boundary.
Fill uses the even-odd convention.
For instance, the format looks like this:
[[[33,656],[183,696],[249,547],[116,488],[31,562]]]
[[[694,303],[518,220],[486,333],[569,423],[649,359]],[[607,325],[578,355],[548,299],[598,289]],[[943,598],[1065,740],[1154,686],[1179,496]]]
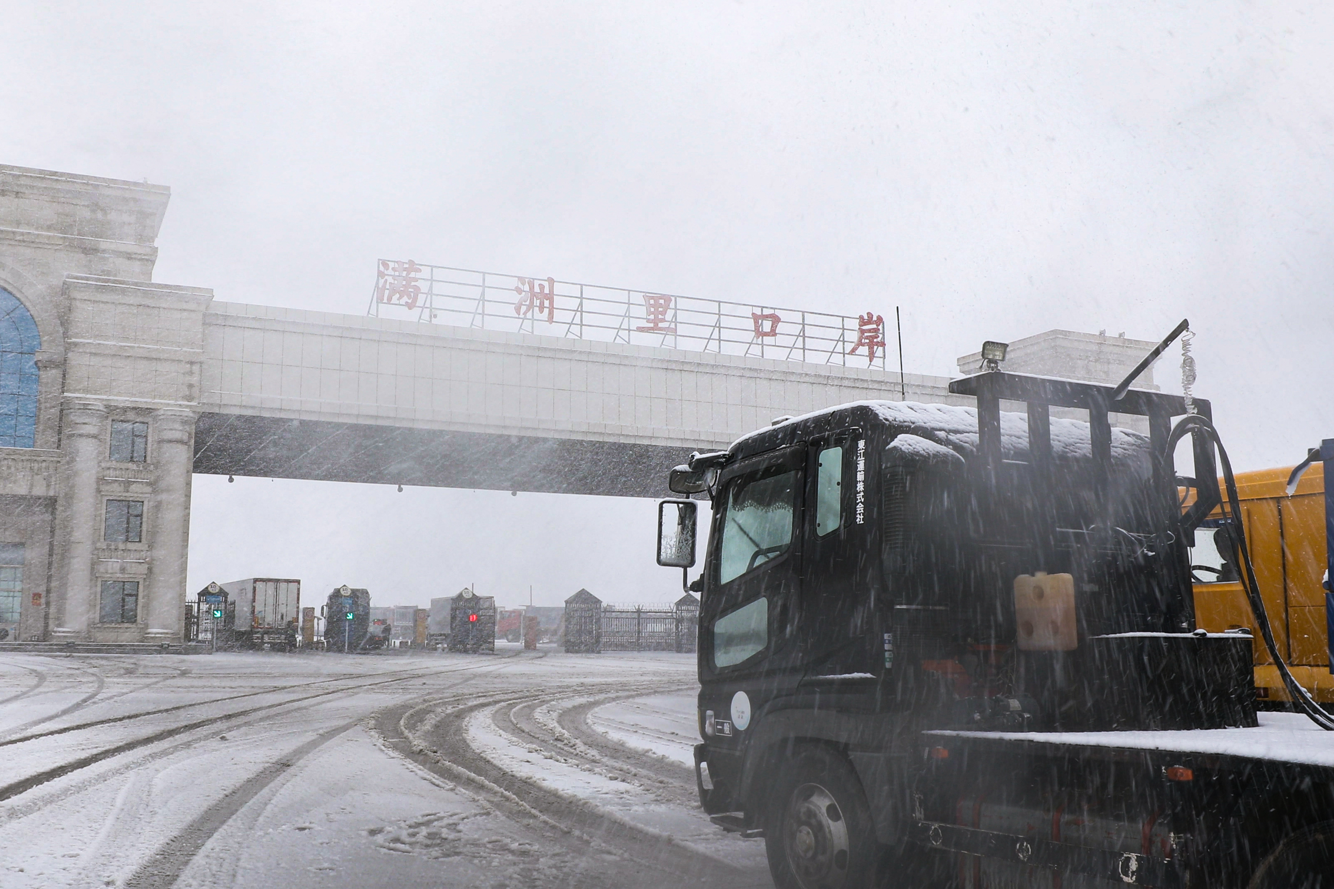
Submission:
[[[375,317],[884,369],[884,320],[380,260]]]

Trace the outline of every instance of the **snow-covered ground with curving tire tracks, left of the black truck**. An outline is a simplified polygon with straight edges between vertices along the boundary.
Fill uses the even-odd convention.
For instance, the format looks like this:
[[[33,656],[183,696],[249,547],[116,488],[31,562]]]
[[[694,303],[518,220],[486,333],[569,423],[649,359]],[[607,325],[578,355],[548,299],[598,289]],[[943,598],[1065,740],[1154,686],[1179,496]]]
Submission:
[[[771,885],[690,770],[695,661],[0,654],[0,884]]]

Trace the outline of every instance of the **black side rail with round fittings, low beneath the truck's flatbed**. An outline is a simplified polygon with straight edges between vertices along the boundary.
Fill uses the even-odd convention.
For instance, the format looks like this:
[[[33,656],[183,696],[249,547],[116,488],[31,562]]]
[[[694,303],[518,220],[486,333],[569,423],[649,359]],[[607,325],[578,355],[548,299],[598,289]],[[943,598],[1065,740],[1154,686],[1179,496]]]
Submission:
[[[939,821],[914,821],[908,838],[931,849],[962,852],[1027,868],[1046,868],[1134,886],[1181,886],[1181,874],[1170,858],[1137,852],[1094,849],[1070,842],[1042,840],[966,828]]]

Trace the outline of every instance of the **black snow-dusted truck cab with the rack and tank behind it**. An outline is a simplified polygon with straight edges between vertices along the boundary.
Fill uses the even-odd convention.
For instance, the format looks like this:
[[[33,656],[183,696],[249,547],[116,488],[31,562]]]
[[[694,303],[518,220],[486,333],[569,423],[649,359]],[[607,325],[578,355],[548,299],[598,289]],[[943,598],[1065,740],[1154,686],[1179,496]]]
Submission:
[[[927,857],[923,825],[956,822],[970,788],[940,782],[948,749],[924,733],[1255,725],[1250,637],[1194,632],[1187,548],[1218,490],[1173,468],[1182,399],[1000,372],[951,389],[979,407],[847,404],[672,472],[712,504],[692,585],[700,801],[766,838],[779,886],[870,885],[887,856]],[[1113,407],[1149,435],[1111,427]],[[1194,457],[1213,480],[1207,443]],[[1185,512],[1181,484],[1199,489]],[[684,566],[694,504],[662,508],[659,564]],[[1047,817],[1043,780],[998,793]],[[1089,868],[1153,872],[1110,861]]]

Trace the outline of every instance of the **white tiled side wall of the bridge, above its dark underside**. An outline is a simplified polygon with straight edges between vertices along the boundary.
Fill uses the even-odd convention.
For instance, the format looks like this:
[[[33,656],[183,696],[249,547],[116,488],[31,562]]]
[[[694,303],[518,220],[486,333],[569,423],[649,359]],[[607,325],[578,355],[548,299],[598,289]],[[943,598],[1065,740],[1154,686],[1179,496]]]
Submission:
[[[898,396],[898,375],[213,303],[203,409],[663,445]],[[948,396],[908,376],[908,397]]]

